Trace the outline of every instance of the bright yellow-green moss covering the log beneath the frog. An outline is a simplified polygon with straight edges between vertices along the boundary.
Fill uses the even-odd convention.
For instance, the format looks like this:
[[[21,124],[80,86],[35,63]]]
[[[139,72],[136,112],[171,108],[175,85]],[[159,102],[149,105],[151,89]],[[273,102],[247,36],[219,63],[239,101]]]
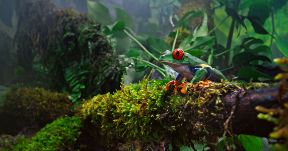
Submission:
[[[151,83],[151,85],[149,85]],[[98,143],[116,145],[122,137],[142,145],[170,141],[177,146],[193,145],[193,141],[215,144],[225,131],[231,106],[221,95],[242,89],[239,83],[223,81],[206,88],[189,89],[187,94],[164,91],[159,81],[143,79],[139,84],[122,86],[113,94],[97,95],[76,112],[91,125]],[[220,127],[220,128],[219,128]],[[130,144],[132,146],[132,144]]]

